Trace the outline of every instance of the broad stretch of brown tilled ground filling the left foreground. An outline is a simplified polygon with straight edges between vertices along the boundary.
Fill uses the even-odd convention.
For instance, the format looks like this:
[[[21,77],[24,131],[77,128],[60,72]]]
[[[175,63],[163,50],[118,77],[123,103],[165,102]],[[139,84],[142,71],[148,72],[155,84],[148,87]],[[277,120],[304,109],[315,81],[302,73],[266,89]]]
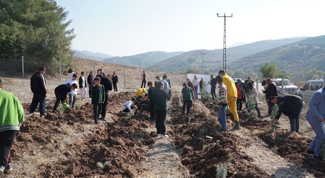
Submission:
[[[131,120],[119,112],[134,93],[110,96],[111,123],[94,125],[90,103],[63,114],[47,112],[45,119],[27,115],[17,133],[12,162],[17,177],[133,177],[146,170],[145,145],[154,143],[148,115]],[[52,101],[53,103],[53,101]],[[25,111],[28,104],[24,104]],[[51,105],[47,106],[51,109]]]

